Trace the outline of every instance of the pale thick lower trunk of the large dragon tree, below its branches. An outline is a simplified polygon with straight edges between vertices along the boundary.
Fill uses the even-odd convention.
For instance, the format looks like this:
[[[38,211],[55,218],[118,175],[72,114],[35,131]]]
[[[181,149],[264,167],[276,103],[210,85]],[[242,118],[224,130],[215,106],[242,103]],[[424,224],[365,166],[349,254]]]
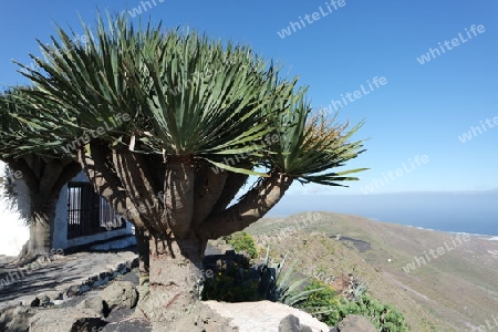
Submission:
[[[196,310],[206,243],[175,239],[173,235],[149,239],[149,292],[138,310],[156,329],[167,329],[173,321]]]

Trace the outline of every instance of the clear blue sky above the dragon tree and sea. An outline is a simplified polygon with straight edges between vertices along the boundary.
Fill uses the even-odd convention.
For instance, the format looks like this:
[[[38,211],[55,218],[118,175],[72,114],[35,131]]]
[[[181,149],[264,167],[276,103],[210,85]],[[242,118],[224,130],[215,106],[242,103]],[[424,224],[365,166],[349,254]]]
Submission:
[[[151,7],[147,1],[2,3],[0,84],[25,83],[11,59],[30,63],[27,54],[39,54],[35,39],[50,42],[55,22],[80,32],[77,14],[92,22],[97,6],[120,12],[141,8],[143,14],[135,11],[133,22],[151,17],[168,28],[188,24],[280,61],[289,74],[300,75],[301,84],[310,85],[317,110],[359,91],[359,98],[343,103],[340,118],[366,121],[357,138],[370,138],[367,152],[347,166],[371,169],[350,188],[298,185],[291,193],[498,188],[498,125],[492,122],[496,117],[498,123],[498,2],[344,0],[334,9],[331,1],[148,1]],[[307,14],[312,23],[305,21]],[[299,17],[305,23],[300,30]],[[281,38],[278,32],[282,34],[290,22],[295,32],[289,30],[290,35]],[[473,24],[483,25],[480,32],[470,32]],[[453,39],[457,46],[452,46]],[[438,43],[445,41],[453,49],[442,46],[443,53]],[[435,56],[429,53],[430,61],[421,64],[417,58],[422,60],[429,48],[440,54],[433,50]],[[370,90],[367,81],[375,77],[384,77],[384,85]],[[369,94],[361,91],[362,84]],[[485,123],[488,118],[490,125]],[[477,128],[468,133],[471,126],[480,126],[481,133]],[[464,133],[471,139],[463,143]],[[426,162],[417,164],[417,156]]]

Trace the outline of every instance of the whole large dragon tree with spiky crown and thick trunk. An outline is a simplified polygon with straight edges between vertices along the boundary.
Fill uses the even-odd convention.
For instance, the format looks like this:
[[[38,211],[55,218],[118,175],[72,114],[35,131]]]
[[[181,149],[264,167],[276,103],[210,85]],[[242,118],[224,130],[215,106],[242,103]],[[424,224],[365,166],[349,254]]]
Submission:
[[[298,79],[249,46],[135,29],[126,15],[83,31],[85,43],[58,28],[40,42],[44,59],[31,55],[39,68],[23,66],[32,87],[19,103],[37,112],[20,117],[45,133],[23,153],[74,149],[94,189],[134,224],[148,279],[139,308],[155,324],[197,303],[209,239],[263,217],[294,181],[343,186],[362,170],[338,172],[363,152],[351,139],[361,123],[315,115]]]

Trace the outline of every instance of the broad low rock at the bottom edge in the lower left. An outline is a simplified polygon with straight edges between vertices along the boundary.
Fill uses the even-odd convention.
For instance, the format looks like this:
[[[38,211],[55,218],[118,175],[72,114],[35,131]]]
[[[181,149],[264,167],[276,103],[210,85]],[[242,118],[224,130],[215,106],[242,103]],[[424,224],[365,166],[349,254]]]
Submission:
[[[29,324],[30,332],[72,332],[72,331],[100,331],[107,324],[100,315],[90,309],[61,308],[39,310]],[[101,329],[102,330],[102,329]],[[9,330],[10,331],[10,330]]]

